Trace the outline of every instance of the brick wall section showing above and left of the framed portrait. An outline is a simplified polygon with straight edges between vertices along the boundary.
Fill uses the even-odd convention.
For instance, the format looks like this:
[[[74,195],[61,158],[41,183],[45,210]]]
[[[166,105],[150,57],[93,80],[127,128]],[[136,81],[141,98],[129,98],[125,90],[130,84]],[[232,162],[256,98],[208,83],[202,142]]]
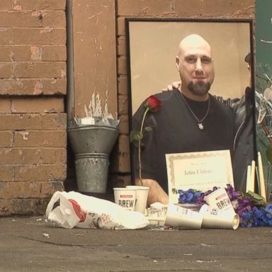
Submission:
[[[115,147],[113,185],[130,183],[128,77],[125,18],[254,18],[254,0],[117,0],[118,115],[120,137]]]

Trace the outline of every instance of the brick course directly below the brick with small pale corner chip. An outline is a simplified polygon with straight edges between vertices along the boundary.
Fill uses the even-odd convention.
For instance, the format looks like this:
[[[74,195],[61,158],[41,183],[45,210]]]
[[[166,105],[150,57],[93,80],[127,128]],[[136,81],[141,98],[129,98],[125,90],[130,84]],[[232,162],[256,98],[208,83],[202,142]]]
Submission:
[[[66,147],[0,148],[0,154],[0,164],[2,166],[11,166],[12,164],[55,164],[55,162],[64,164],[67,159]]]

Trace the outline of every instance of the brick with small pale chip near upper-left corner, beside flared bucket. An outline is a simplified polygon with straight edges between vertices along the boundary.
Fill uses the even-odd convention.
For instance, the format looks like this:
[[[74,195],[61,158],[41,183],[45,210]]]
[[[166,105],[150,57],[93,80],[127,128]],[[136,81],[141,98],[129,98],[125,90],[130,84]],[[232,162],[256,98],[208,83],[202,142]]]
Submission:
[[[14,132],[14,147],[66,147],[66,131],[22,130]]]

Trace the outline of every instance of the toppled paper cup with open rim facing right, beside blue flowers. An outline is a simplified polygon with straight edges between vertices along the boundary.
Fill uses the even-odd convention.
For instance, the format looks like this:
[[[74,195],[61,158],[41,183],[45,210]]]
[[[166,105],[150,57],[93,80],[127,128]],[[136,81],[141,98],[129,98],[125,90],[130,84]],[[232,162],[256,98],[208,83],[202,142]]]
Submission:
[[[239,227],[237,213],[220,211],[206,204],[200,208],[199,213],[203,215],[202,227],[215,229],[237,229]]]

